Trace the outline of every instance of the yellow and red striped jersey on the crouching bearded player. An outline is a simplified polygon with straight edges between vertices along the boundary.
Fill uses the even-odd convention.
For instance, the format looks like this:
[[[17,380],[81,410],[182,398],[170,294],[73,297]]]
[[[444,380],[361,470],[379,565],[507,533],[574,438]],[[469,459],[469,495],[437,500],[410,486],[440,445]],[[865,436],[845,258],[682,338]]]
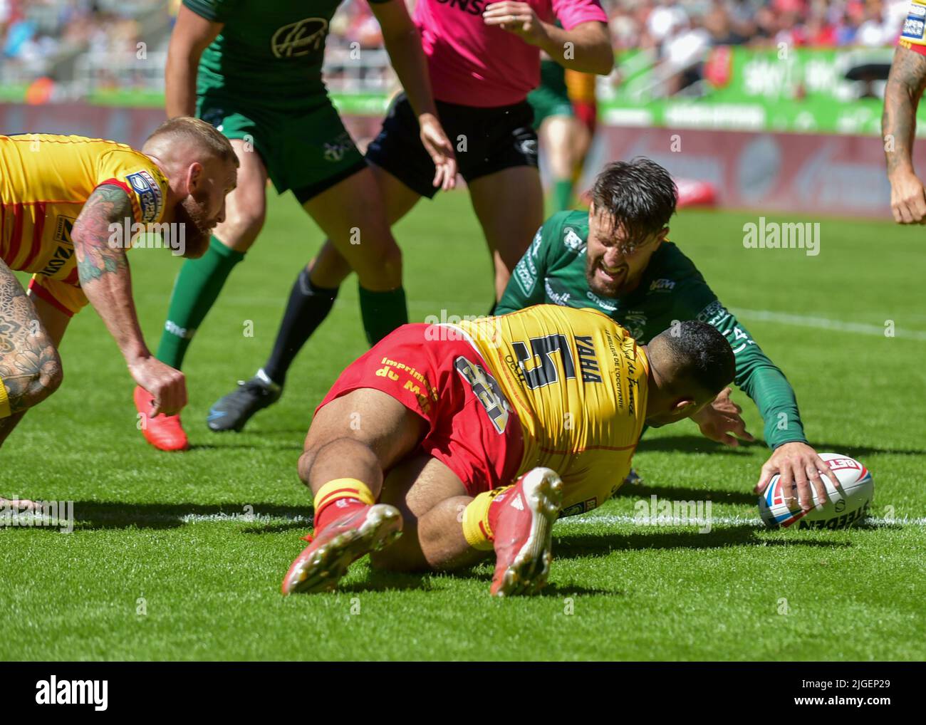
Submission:
[[[10,269],[79,285],[70,231],[100,184],[131,198],[132,221],[159,223],[168,181],[125,144],[82,136],[0,136],[0,258]]]

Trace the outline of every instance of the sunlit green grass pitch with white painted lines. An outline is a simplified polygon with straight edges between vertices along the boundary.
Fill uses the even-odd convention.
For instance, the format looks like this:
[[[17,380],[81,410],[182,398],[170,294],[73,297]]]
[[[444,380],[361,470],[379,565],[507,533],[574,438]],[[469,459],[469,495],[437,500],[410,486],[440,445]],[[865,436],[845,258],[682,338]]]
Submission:
[[[303,437],[365,343],[352,280],[280,404],[247,432],[206,429],[208,406],[267,355],[297,269],[319,247],[292,198],[274,198],[187,358],[193,450],[144,444],[115,344],[93,310],[73,320],[65,382],[0,452],[0,493],[72,500],[76,528],[0,530],[0,659],[926,658],[923,231],[822,219],[820,255],[807,256],[745,249],[743,225],[757,217],[683,211],[670,238],[726,305],[771,313],[742,319],[795,386],[812,443],[872,471],[870,523],[763,530],[750,492],[767,449],[712,444],[686,421],[644,437],[643,484],[557,524],[540,596],[492,600],[488,565],[397,576],[359,562],[336,594],[282,598],[307,531]],[[395,236],[411,319],[487,309],[488,256],[465,193],[420,204]],[[154,348],[179,260],[136,250],[131,266]],[[893,337],[880,332],[887,320]],[[733,397],[760,434],[755,406]],[[634,503],[652,494],[709,498],[711,531],[634,524]]]

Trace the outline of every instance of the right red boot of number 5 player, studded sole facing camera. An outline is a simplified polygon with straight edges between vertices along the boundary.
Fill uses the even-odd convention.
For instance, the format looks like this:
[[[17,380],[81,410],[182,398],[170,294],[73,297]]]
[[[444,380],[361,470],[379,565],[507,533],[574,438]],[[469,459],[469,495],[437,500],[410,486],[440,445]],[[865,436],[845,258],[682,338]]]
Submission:
[[[495,548],[493,596],[534,594],[546,584],[553,559],[551,531],[563,501],[563,481],[537,468],[495,496],[489,525]]]

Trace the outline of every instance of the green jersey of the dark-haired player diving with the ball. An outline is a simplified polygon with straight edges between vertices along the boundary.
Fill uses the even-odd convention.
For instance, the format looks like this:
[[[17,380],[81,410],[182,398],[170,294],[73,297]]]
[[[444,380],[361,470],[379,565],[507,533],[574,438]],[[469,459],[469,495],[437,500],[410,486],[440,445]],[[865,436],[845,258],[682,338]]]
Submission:
[[[541,304],[594,307],[642,344],[667,330],[673,320],[700,319],[730,343],[736,356],[736,385],[756,402],[770,447],[807,443],[795,392],[784,374],[720,304],[681,249],[671,242],[661,244],[637,288],[626,297],[612,299],[594,294],[585,279],[587,240],[587,212],[564,211],[547,219],[515,267],[495,314]]]

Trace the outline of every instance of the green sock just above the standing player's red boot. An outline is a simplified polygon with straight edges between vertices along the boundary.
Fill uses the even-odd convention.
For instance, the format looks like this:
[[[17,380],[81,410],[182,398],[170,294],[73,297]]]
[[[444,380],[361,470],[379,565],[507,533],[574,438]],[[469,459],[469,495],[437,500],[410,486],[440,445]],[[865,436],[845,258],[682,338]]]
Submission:
[[[168,319],[157,345],[158,360],[180,369],[196,328],[219,297],[232,267],[242,259],[244,253],[229,249],[212,237],[205,255],[183,262],[170,294]]]

